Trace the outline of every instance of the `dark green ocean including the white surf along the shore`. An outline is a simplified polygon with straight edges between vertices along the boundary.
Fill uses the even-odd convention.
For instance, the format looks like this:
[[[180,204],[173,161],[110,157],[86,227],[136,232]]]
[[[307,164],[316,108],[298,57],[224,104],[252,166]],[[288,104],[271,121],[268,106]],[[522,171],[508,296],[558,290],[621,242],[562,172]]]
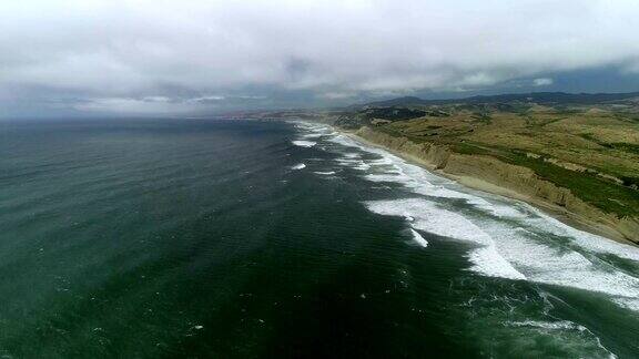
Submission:
[[[0,122],[0,358],[638,358],[639,248],[308,122]]]

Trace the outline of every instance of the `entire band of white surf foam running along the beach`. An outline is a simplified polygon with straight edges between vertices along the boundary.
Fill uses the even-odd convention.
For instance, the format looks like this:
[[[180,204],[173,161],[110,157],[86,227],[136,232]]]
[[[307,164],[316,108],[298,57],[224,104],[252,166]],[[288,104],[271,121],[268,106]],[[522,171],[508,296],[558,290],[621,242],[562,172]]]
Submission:
[[[639,311],[639,278],[597,256],[612,255],[636,265],[639,263],[639,248],[575,229],[527,204],[466,189],[348,136],[326,139],[338,146],[349,147],[346,151],[337,147],[343,155],[337,160],[339,164],[366,171],[363,177],[367,181],[396,183],[422,196],[367,202],[368,209],[404,217],[413,236],[423,230],[475,243],[477,248],[468,254],[471,270],[487,276],[600,293],[623,308]],[[362,156],[344,154],[353,153],[353,147],[378,158],[362,160]],[[442,202],[443,198],[464,201],[468,206],[465,207],[471,212],[462,211],[455,202]],[[556,240],[557,237],[562,239]],[[567,324],[551,324],[555,325]]]

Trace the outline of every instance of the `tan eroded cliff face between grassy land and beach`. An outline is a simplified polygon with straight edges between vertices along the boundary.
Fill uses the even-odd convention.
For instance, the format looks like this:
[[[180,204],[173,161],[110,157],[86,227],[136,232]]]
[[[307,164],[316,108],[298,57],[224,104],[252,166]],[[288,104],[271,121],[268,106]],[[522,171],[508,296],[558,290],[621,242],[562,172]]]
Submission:
[[[639,218],[619,218],[615,214],[604,213],[576,197],[569,188],[559,187],[540,178],[530,168],[508,164],[491,156],[455,153],[445,145],[414,143],[407,139],[392,136],[371,127],[362,127],[355,134],[418,161],[432,170],[439,170],[452,176],[477,178],[515,192],[521,197],[565,208],[574,219],[610,228],[621,237],[639,244]]]

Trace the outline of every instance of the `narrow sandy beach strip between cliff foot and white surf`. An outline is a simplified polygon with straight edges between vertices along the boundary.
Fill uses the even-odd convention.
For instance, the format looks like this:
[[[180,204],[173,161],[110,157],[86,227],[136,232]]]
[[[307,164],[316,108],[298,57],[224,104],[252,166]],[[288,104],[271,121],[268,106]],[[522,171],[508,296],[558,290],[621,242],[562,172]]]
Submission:
[[[633,242],[632,239],[628,238],[626,235],[623,235],[623,233],[621,230],[619,230],[619,228],[616,228],[615,226],[609,225],[609,224],[592,220],[592,219],[588,218],[587,216],[581,215],[579,213],[570,212],[565,206],[559,206],[559,205],[552,203],[551,201],[548,201],[547,198],[542,198],[542,197],[538,197],[538,196],[531,196],[531,195],[528,195],[526,193],[518,192],[514,188],[508,188],[506,186],[495,184],[495,183],[489,182],[489,181],[481,178],[479,176],[471,176],[471,175],[466,175],[466,174],[455,174],[455,173],[446,172],[444,168],[442,168],[442,166],[438,166],[437,164],[434,164],[433,162],[426,161],[425,158],[423,158],[420,156],[410,154],[407,151],[400,151],[400,150],[394,148],[393,146],[388,146],[388,145],[385,145],[383,143],[378,143],[376,141],[372,141],[371,139],[366,139],[366,137],[361,135],[359,131],[345,131],[343,129],[335,129],[335,130],[338,131],[339,133],[345,134],[346,136],[348,136],[355,141],[362,142],[366,145],[388,151],[388,152],[393,153],[394,155],[402,157],[403,160],[406,160],[413,164],[419,165],[420,167],[423,167],[423,168],[425,168],[425,170],[427,170],[434,174],[437,174],[437,175],[440,175],[443,177],[453,180],[453,181],[455,181],[455,182],[457,182],[457,183],[459,183],[459,184],[462,184],[468,188],[489,193],[489,194],[494,194],[494,195],[508,197],[508,198],[516,199],[516,201],[525,202],[525,203],[540,209],[541,212],[551,216],[552,218],[560,220],[561,223],[569,225],[571,227],[575,227],[577,229],[588,232],[590,234],[595,234],[595,235],[605,237],[607,239],[615,240],[617,243],[639,247],[639,243]]]

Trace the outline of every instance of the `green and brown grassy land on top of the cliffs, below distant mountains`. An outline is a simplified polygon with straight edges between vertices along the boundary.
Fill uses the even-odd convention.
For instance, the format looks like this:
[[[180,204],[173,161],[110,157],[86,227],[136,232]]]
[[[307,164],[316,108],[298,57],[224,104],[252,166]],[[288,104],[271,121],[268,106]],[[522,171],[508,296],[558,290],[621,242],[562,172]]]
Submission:
[[[356,110],[337,124],[494,156],[535,171],[606,213],[639,216],[638,109],[637,102],[450,103]]]

